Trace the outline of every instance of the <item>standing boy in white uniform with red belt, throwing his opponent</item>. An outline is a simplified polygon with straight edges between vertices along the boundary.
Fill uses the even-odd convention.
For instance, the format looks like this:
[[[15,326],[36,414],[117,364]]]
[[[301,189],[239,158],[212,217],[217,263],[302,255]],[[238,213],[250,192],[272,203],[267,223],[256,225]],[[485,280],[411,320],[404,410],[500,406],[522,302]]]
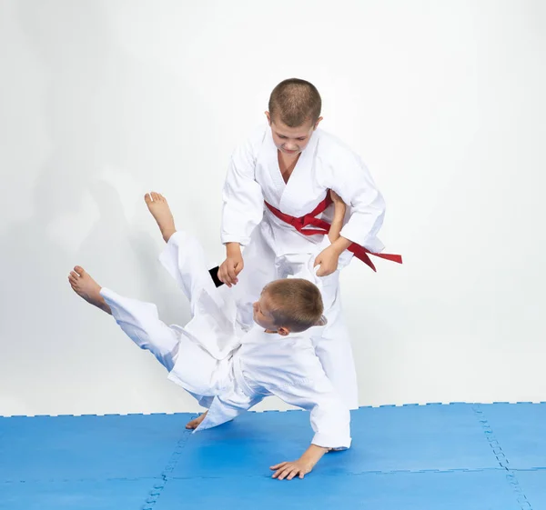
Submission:
[[[319,129],[320,110],[314,85],[296,78],[281,82],[269,99],[268,125],[232,155],[221,231],[227,257],[217,277],[251,302],[268,281],[298,271],[319,248],[314,265],[324,280],[328,325],[313,342],[332,384],[354,409],[357,377],[341,312],[339,270],[353,254],[374,268],[369,254],[383,249],[377,234],[385,203],[359,156]],[[329,190],[348,205],[333,243],[325,235],[334,221]],[[397,255],[379,256],[401,261]]]

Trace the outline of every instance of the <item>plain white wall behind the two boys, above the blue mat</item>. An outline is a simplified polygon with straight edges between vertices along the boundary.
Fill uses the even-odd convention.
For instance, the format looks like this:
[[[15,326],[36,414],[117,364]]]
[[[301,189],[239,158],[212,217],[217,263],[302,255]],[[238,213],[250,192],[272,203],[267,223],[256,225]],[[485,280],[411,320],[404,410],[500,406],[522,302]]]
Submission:
[[[187,319],[142,195],[219,262],[229,155],[292,76],[405,257],[343,275],[361,404],[546,400],[541,0],[2,0],[0,58],[0,414],[197,409],[66,275]]]

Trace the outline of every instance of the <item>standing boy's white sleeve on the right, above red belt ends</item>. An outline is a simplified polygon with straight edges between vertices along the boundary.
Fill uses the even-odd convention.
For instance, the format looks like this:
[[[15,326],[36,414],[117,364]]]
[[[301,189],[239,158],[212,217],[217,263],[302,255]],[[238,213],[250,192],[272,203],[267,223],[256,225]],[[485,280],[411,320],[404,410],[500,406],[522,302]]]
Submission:
[[[382,251],[377,235],[383,225],[385,201],[357,155],[347,154],[337,161],[330,187],[349,207],[349,220],[340,235],[372,252]]]

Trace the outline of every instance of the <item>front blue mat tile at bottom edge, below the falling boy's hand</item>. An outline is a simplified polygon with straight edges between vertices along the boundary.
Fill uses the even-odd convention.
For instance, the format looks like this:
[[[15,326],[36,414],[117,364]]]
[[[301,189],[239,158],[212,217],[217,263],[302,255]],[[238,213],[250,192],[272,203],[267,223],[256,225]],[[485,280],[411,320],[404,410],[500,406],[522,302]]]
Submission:
[[[501,470],[443,473],[312,473],[290,482],[264,476],[169,480],[154,510],[521,510]]]

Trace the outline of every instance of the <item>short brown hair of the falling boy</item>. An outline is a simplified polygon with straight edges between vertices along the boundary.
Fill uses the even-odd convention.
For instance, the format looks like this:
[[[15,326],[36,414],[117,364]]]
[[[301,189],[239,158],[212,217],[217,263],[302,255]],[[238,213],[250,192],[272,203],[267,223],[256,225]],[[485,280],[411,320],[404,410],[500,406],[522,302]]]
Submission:
[[[314,325],[326,325],[319,287],[303,278],[275,280],[264,287],[275,325],[294,333]]]

